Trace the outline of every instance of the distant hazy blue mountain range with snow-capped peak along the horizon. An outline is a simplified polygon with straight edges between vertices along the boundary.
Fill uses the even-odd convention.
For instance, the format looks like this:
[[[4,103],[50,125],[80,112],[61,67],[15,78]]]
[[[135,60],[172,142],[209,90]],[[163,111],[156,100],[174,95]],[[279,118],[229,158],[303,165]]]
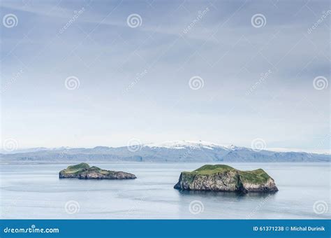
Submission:
[[[31,148],[2,153],[1,162],[330,162],[331,155],[256,151],[206,141],[168,141],[123,147]]]

